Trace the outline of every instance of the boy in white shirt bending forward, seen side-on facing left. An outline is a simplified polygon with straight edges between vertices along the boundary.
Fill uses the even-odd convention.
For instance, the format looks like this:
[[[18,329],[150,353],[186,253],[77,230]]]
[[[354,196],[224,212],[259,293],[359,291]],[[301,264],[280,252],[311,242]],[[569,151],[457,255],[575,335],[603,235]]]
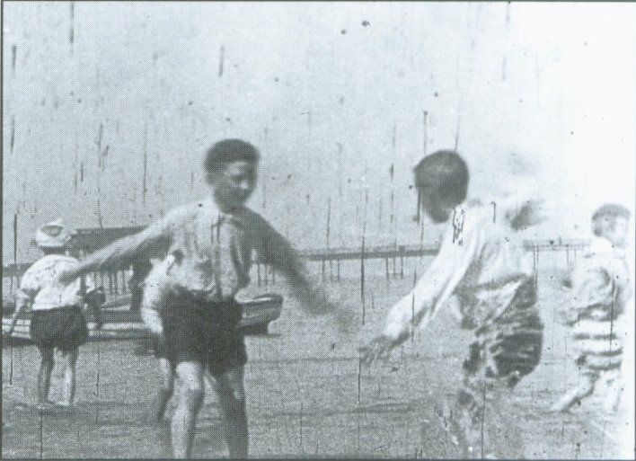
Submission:
[[[536,224],[535,203],[467,201],[468,167],[453,151],[438,151],[415,167],[422,208],[447,223],[439,253],[411,293],[389,311],[384,331],[361,348],[363,362],[388,358],[417,324],[427,325],[451,295],[462,328],[475,338],[464,359],[464,381],[444,409],[444,424],[463,457],[523,454],[505,396],[539,363],[543,323],[536,306],[534,268],[518,229]],[[430,338],[430,341],[437,341]],[[508,437],[508,439],[507,439]]]

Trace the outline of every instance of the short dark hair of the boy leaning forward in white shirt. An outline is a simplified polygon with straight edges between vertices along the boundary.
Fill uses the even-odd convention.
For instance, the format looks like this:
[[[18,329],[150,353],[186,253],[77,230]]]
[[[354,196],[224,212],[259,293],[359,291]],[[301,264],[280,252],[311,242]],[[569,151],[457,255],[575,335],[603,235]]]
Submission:
[[[453,205],[466,199],[470,175],[468,165],[453,150],[438,150],[413,168],[415,187],[437,193]]]

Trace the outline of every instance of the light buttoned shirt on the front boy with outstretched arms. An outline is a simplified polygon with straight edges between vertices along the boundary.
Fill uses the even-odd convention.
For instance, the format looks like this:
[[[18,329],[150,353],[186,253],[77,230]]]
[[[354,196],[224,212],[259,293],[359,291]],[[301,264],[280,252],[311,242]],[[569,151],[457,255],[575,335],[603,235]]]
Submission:
[[[283,272],[297,296],[315,301],[319,293],[310,286],[304,263],[282,235],[250,208],[225,214],[211,198],[174,208],[144,231],[91,254],[81,263],[80,272],[171,258],[162,265],[167,269],[160,282],[163,286],[215,301],[234,297],[249,284],[252,252]]]

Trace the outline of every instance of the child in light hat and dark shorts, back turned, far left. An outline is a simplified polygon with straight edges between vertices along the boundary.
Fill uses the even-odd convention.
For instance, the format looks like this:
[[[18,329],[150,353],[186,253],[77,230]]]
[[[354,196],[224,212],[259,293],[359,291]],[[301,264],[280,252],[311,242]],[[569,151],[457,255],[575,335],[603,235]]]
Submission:
[[[41,362],[38,374],[38,405],[46,409],[53,404],[49,400],[54,350],[64,357],[63,400],[59,405],[70,407],[75,400],[75,363],[79,346],[88,339],[88,328],[82,312],[84,303],[93,307],[98,328],[99,306],[104,301],[102,288],[95,288],[93,280],[72,279],[60,283],[57,274],[75,268],[78,261],[66,255],[73,234],[61,220],[41,226],[35,235],[36,244],[44,257],[22,276],[16,298],[16,308],[7,334],[11,334],[22,311],[31,306],[31,340],[40,350]]]

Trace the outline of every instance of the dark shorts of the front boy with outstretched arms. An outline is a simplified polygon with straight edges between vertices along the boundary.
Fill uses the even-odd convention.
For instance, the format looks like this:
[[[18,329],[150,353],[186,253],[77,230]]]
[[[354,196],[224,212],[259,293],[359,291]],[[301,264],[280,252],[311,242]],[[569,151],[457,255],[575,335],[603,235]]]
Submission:
[[[199,362],[216,376],[243,367],[247,352],[238,329],[241,315],[241,305],[234,300],[208,303],[182,294],[170,297],[163,309],[164,341],[157,341],[155,354],[175,366]]]

